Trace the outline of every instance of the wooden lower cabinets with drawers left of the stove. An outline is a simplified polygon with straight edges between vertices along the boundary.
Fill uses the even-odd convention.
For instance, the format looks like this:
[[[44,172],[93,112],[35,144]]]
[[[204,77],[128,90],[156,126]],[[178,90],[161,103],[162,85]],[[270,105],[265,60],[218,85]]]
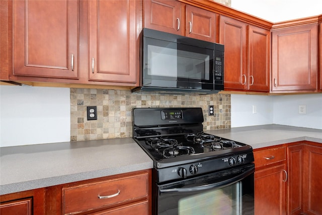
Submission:
[[[151,214],[151,170],[0,196],[1,215]]]

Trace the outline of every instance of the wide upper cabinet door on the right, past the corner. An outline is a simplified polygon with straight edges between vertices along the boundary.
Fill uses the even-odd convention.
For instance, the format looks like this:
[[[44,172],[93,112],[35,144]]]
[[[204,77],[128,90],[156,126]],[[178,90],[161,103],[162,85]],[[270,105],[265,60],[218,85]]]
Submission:
[[[272,91],[317,89],[317,24],[272,32]]]

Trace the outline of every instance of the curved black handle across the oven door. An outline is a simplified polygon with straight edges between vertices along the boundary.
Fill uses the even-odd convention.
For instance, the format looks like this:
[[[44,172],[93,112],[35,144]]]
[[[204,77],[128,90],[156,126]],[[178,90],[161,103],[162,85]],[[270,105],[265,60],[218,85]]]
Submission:
[[[234,183],[237,183],[238,181],[243,180],[247,176],[254,173],[254,168],[245,171],[244,173],[241,173],[240,175],[237,175],[233,178],[229,178],[225,181],[219,181],[212,184],[207,185],[201,185],[201,186],[195,186],[195,187],[189,187],[189,188],[171,188],[171,189],[160,189],[160,193],[168,193],[168,192],[191,192],[191,191],[199,191],[199,190],[207,190],[207,189],[213,189],[213,188],[221,188],[225,187]]]

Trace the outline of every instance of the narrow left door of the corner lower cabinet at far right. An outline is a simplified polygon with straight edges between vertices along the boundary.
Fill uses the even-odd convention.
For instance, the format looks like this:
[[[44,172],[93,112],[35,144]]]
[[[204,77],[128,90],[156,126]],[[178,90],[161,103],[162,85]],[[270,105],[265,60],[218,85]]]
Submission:
[[[303,159],[304,146],[296,145],[287,148],[288,155],[288,213],[300,214],[303,210]]]

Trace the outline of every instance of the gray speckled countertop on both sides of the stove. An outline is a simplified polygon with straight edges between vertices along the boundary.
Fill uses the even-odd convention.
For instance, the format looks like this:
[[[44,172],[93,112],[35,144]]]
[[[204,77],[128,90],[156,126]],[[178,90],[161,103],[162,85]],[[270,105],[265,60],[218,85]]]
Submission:
[[[260,125],[209,130],[254,149],[309,140],[322,144],[322,130]],[[132,138],[60,142],[0,148],[0,194],[153,168]]]

